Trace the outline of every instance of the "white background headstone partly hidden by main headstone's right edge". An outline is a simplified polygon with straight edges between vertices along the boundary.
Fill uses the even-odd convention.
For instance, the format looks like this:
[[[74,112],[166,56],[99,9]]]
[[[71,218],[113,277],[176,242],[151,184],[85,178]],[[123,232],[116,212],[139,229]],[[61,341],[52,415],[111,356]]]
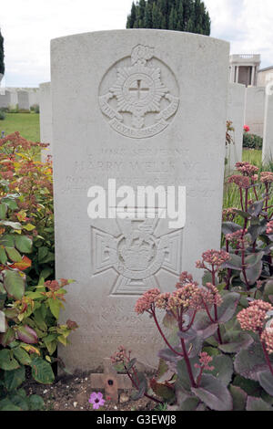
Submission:
[[[229,83],[227,97],[227,120],[232,121],[234,131],[231,132],[233,142],[227,145],[227,169],[235,169],[236,162],[242,161],[244,114],[246,103],[246,87],[237,83]]]

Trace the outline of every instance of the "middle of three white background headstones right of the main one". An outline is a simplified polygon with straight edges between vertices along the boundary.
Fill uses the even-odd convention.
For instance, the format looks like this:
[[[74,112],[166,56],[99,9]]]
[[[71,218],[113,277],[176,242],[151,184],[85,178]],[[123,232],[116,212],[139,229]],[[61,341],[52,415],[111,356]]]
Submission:
[[[248,87],[246,94],[245,124],[251,134],[263,137],[265,119],[266,89]]]

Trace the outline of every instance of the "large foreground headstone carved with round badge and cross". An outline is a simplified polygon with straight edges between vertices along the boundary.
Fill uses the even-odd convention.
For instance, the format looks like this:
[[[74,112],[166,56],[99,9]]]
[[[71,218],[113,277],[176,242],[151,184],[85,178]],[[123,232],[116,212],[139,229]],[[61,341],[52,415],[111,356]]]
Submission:
[[[59,350],[69,369],[94,370],[120,344],[157,365],[162,342],[136,299],[174,290],[183,270],[200,280],[197,259],[219,248],[228,54],[224,41],[160,30],[52,41],[56,276],[76,280],[62,318],[80,327]],[[108,179],[186,186],[185,227],[170,229],[157,204],[155,219],[91,220],[87,191],[108,196]]]

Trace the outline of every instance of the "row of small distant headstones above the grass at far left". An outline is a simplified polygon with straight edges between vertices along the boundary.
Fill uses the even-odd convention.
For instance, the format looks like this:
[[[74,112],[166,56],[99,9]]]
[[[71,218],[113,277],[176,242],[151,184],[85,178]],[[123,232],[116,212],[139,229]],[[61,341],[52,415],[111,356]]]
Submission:
[[[6,88],[0,94],[0,109],[15,108],[19,110],[29,110],[31,106],[40,104],[38,88]]]

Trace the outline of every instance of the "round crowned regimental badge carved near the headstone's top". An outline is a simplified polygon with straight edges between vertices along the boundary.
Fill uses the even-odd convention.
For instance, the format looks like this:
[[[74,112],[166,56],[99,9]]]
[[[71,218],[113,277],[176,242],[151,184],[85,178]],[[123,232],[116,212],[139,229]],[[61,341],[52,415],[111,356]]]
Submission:
[[[99,106],[110,126],[132,139],[146,139],[165,130],[177,113],[177,79],[154,56],[153,47],[134,47],[110,68],[99,89]]]

